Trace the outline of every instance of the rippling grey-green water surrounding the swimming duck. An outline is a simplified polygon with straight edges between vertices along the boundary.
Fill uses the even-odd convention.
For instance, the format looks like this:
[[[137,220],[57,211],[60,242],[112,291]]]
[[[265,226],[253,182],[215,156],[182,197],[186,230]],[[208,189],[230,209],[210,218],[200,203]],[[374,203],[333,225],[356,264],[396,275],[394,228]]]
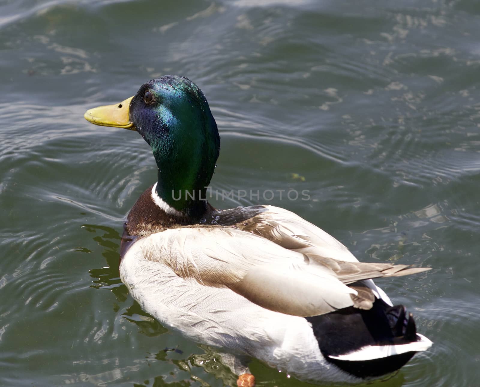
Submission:
[[[374,384],[477,386],[479,22],[473,0],[0,1],[0,385],[234,380],[121,284],[122,221],[155,164],[137,133],[83,119],[174,73],[220,128],[213,189],[309,190],[267,203],[360,260],[433,267],[377,281],[434,346]]]

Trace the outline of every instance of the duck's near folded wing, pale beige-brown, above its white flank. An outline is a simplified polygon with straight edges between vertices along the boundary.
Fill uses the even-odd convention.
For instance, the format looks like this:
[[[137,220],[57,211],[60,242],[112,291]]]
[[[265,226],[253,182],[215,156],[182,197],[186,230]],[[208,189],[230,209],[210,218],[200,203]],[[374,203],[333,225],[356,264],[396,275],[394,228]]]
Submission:
[[[229,227],[184,227],[142,238],[142,255],[171,268],[185,281],[229,288],[266,309],[311,316],[355,305],[359,291],[342,279],[351,278],[351,265],[325,265],[285,249],[258,235]],[[364,265],[354,278],[401,275],[404,265]],[[379,266],[380,265],[380,266]],[[382,266],[383,265],[383,266]],[[349,281],[349,279],[348,279]],[[347,281],[347,282],[348,282]]]

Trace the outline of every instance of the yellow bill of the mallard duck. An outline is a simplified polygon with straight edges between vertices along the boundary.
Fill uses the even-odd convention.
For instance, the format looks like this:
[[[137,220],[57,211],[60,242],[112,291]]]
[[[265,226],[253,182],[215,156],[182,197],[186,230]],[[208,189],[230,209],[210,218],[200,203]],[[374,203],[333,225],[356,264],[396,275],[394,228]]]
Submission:
[[[127,98],[119,104],[88,109],[84,114],[84,118],[95,125],[113,126],[115,128],[136,131],[133,122],[130,121],[130,101],[132,98]]]

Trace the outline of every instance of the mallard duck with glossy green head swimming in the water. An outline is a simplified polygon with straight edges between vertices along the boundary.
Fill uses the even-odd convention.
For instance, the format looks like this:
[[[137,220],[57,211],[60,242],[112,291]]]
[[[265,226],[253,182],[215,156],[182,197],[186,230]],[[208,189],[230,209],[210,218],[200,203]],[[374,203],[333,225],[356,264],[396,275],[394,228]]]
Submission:
[[[140,133],[157,181],[124,223],[120,278],[162,325],[219,349],[238,386],[248,360],[310,383],[359,383],[396,372],[432,341],[373,278],[430,267],[364,263],[295,213],[206,200],[220,136],[204,93],[186,77],[144,83],[124,101],[89,109],[96,125]]]

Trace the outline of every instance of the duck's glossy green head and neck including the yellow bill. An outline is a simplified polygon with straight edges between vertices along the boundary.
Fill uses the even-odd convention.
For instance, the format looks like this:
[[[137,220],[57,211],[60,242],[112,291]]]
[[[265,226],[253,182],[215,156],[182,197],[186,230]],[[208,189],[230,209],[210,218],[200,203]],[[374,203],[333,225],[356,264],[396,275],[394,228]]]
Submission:
[[[200,199],[215,169],[220,136],[204,94],[192,81],[165,75],[120,104],[90,109],[84,117],[140,133],[155,156],[158,196],[187,215],[204,211],[206,202]]]

